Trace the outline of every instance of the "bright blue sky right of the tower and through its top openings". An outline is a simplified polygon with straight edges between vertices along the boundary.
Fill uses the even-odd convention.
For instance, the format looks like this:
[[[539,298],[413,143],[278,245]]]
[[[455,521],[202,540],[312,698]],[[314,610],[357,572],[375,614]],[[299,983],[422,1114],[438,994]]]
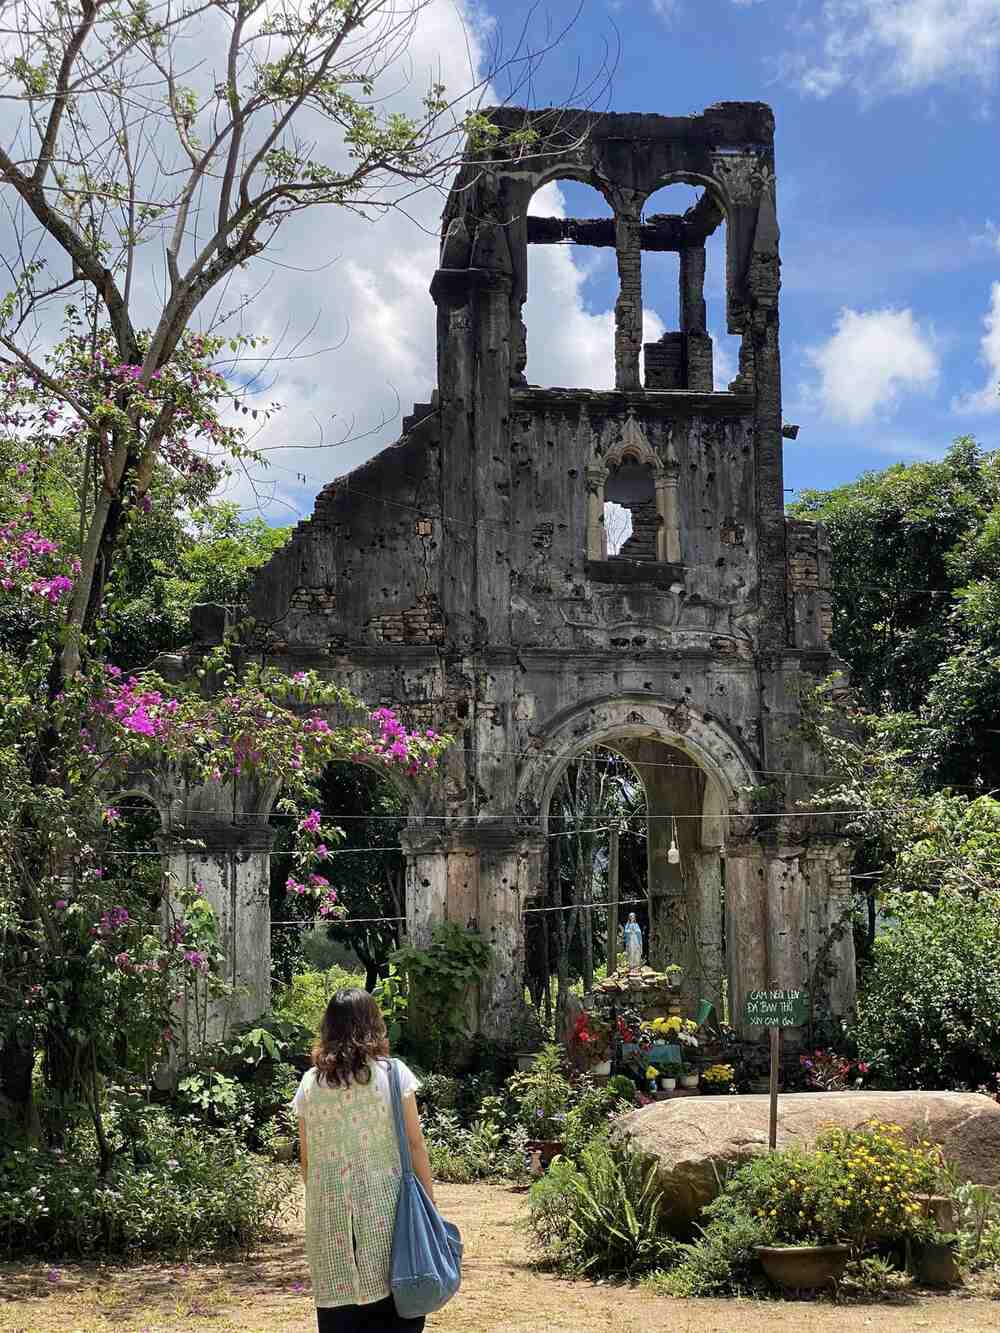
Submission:
[[[504,28],[527,8],[505,3]],[[575,11],[548,8],[556,23]],[[984,360],[983,340],[995,304],[1000,315],[999,0],[591,3],[547,60],[539,101],[563,96],[609,33],[621,43],[611,109],[775,111],[785,420],[803,428],[785,484],[836,485],[967,432],[993,448],[1000,347]],[[651,207],[673,211],[669,193]],[[588,192],[565,195],[587,207]],[[676,260],[651,259],[645,300],[673,327]],[[613,301],[612,276],[600,263],[588,308]]]

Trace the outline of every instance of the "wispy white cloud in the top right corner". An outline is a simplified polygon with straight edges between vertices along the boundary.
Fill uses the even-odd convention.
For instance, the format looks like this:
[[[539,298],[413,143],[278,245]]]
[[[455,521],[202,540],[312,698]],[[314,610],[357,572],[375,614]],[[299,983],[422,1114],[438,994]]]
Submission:
[[[989,87],[1000,64],[997,0],[825,0],[799,31],[783,71],[813,97],[848,85],[865,99],[960,79]]]

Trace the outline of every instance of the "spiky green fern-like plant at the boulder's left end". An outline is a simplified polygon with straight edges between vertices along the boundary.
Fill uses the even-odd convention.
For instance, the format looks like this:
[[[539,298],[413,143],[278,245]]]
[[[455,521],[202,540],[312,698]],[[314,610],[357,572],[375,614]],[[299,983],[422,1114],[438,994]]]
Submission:
[[[656,1165],[625,1144],[595,1138],[579,1162],[556,1158],[528,1196],[528,1225],[556,1268],[633,1277],[672,1261],[660,1224]]]

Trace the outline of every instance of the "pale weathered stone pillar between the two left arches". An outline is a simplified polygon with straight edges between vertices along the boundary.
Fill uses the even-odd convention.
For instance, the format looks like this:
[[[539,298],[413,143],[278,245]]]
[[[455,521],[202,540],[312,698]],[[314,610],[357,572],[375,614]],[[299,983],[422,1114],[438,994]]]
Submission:
[[[200,818],[184,841],[164,833],[160,846],[171,885],[200,884],[216,916],[223,952],[221,980],[231,993],[209,998],[204,984],[181,994],[177,1012],[179,1057],[224,1041],[241,1022],[271,1009],[271,846],[267,824],[228,824]],[[203,845],[199,846],[197,844]]]

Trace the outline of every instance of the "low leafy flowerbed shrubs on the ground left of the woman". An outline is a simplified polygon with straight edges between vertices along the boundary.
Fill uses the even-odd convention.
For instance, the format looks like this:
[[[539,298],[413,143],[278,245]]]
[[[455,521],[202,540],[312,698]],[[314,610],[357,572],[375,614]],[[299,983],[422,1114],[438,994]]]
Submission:
[[[0,1160],[0,1253],[47,1260],[93,1254],[244,1254],[276,1225],[295,1172],[243,1148],[237,1134],[155,1118],[140,1165],[119,1154],[100,1177],[97,1154],[27,1149]]]

